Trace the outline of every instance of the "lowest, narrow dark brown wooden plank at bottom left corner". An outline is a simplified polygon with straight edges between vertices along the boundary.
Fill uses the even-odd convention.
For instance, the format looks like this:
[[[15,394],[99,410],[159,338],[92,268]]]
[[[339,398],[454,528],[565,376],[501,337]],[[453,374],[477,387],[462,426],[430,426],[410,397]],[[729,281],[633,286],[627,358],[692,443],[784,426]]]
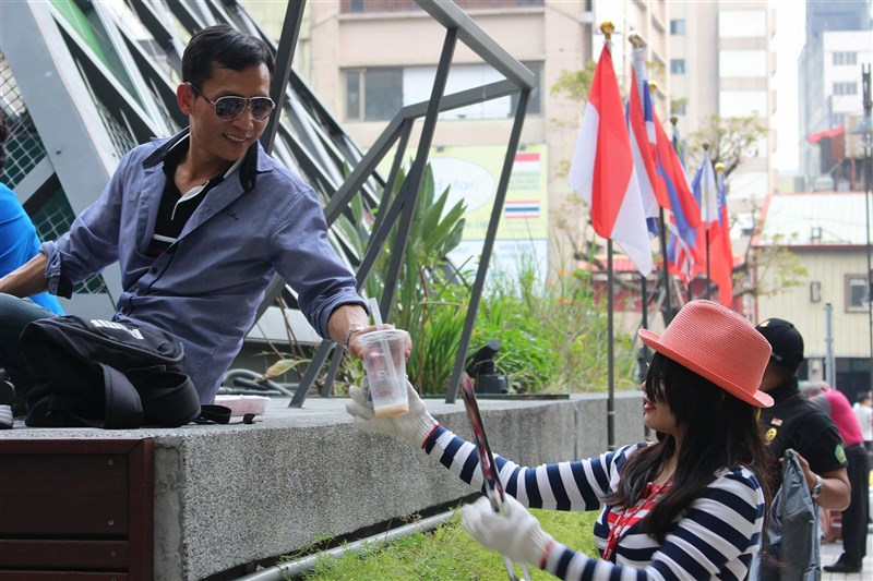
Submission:
[[[0,568],[101,569],[124,571],[129,565],[124,541],[36,541],[0,538]]]

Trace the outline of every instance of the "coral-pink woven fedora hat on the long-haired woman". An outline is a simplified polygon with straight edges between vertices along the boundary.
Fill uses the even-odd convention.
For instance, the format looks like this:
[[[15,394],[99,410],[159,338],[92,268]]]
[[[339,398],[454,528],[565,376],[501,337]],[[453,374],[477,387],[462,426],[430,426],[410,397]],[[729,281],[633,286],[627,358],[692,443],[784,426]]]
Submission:
[[[753,406],[769,408],[761,391],[770,344],[745,317],[711,301],[691,301],[658,336],[637,331],[648,347]]]

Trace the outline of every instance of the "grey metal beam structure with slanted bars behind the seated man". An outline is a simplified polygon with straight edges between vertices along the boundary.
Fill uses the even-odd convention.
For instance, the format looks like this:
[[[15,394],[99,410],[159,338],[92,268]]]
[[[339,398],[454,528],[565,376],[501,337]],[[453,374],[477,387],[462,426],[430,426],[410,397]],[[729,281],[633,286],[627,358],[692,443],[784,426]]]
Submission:
[[[390,313],[440,113],[517,94],[470,307],[446,392],[446,402],[454,402],[535,77],[454,2],[416,0],[416,3],[445,28],[430,99],[403,107],[363,155],[291,69],[304,0],[289,0],[278,46],[236,0],[125,0],[121,14],[101,2],[87,0],[60,4],[35,0],[1,2],[0,57],[14,77],[10,76],[11,81],[3,77],[0,97],[7,95],[5,85],[14,84],[21,99],[14,107],[8,99],[0,99],[0,105],[4,112],[14,109],[33,120],[36,138],[41,140],[45,150],[45,157],[28,169],[25,179],[12,185],[27,207],[28,201],[34,206],[45,197],[41,192],[51,184],[56,187],[59,184],[72,211],[79,214],[108,182],[125,153],[124,145],[145,143],[154,135],[172,133],[186,124],[176,106],[175,93],[187,43],[183,34],[191,35],[212,24],[230,24],[263,38],[276,50],[272,97],[282,114],[271,118],[262,143],[280,162],[297,168],[322,195],[331,227],[330,239],[349,267],[357,269],[358,289],[393,232],[386,277],[391,282],[380,299],[381,312]],[[505,78],[446,95],[446,80],[458,41]],[[392,199],[391,192],[400,175],[402,160],[418,120],[422,124],[416,154]],[[391,171],[383,180],[375,168],[395,146]],[[348,175],[344,174],[346,167],[351,168]],[[381,199],[379,190],[384,192]],[[335,227],[340,216],[349,215],[350,202],[357,195],[363,197],[367,208],[379,206],[379,218],[363,256],[357,255],[350,241],[343,239],[342,229]],[[87,306],[81,306],[83,299],[76,295],[80,314],[105,316],[107,311],[111,312],[112,295],[120,292],[120,277],[107,271],[105,278],[107,292],[92,296]],[[280,280],[271,285],[259,308],[259,319],[267,314],[284,289]],[[332,341],[322,341],[294,395],[291,407],[302,406],[331,353],[327,382],[322,389],[323,396],[330,394],[343,352]]]

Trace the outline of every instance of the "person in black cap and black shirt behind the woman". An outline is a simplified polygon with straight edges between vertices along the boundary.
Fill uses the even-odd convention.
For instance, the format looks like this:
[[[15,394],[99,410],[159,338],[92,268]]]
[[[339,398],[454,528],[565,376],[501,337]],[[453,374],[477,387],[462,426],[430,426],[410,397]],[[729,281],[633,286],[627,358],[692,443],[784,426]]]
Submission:
[[[776,458],[782,458],[789,448],[794,450],[817,506],[844,510],[849,506],[851,491],[842,438],[830,417],[813,407],[798,389],[797,371],[803,362],[803,337],[791,323],[781,318],[768,318],[755,329],[773,348],[761,380],[761,389],[774,399],[772,408],[762,409],[765,438]],[[777,483],[780,476],[776,474]]]

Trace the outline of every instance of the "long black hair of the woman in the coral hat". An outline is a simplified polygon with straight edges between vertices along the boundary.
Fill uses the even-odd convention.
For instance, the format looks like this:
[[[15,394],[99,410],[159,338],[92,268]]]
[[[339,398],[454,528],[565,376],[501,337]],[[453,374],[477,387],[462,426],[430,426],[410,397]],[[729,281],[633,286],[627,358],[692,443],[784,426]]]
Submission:
[[[643,530],[663,543],[673,520],[715,480],[721,469],[745,465],[772,496],[772,453],[765,445],[758,411],[716,384],[667,356],[655,353],[646,375],[646,397],[667,402],[677,427],[684,432],[673,483],[643,519]],[[609,504],[629,507],[639,500],[646,484],[655,480],[675,453],[675,438],[658,433],[658,443],[632,456]],[[766,512],[765,512],[766,513]]]

